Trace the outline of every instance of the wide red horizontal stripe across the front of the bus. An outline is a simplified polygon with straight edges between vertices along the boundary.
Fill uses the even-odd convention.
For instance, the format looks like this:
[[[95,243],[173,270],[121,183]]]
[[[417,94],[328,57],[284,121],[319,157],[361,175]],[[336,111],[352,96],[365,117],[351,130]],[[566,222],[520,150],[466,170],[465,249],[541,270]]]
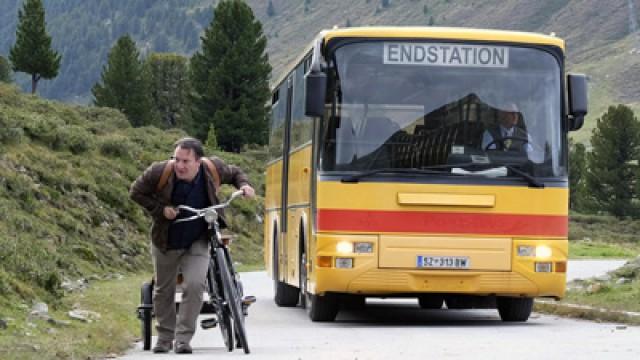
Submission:
[[[318,209],[319,231],[567,237],[567,216]]]

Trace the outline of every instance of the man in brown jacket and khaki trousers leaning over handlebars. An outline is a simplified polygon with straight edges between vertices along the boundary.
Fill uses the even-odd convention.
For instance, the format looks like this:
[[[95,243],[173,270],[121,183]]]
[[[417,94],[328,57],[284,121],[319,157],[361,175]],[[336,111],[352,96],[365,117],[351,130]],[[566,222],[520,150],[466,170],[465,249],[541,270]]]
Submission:
[[[217,157],[205,157],[199,140],[183,138],[175,143],[171,160],[153,163],[131,185],[131,199],[150,214],[153,222],[153,309],[158,331],[154,353],[169,352],[174,340],[176,353],[192,352],[189,342],[202,307],[209,264],[208,225],[204,219],[179,223],[174,220],[189,216],[177,210],[180,205],[200,209],[218,204],[221,184],[243,190],[245,197],[255,193],[240,168]],[[184,291],[176,314],[178,269],[183,275]]]

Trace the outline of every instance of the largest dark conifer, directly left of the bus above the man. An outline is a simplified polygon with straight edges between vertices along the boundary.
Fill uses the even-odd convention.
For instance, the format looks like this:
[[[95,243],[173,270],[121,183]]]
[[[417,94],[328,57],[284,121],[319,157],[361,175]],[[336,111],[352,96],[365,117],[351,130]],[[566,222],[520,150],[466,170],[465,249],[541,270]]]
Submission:
[[[205,139],[213,124],[218,145],[239,152],[245,144],[267,140],[267,39],[244,1],[222,0],[214,19],[191,59],[195,135]]]

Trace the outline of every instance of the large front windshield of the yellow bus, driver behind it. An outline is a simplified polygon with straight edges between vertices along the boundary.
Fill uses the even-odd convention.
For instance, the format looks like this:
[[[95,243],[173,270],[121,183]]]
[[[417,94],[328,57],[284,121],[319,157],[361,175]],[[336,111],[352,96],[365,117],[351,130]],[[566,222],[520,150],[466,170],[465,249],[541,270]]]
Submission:
[[[545,50],[363,41],[332,61],[324,172],[566,176],[561,65]]]

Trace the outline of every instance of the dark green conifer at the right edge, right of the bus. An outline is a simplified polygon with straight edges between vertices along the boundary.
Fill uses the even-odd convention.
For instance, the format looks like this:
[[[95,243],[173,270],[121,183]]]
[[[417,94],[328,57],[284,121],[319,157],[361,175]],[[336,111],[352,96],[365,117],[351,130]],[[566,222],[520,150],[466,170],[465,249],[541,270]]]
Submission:
[[[616,217],[637,215],[640,122],[624,105],[610,106],[597,120],[587,154],[587,187],[599,209]]]

